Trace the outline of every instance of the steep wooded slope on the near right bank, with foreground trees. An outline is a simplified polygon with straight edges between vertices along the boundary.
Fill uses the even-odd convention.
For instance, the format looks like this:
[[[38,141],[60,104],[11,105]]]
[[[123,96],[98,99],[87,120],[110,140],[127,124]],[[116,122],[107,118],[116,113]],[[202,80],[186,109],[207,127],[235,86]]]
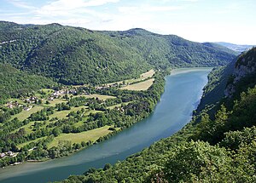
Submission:
[[[207,94],[223,97],[172,137],[156,142],[125,161],[90,169],[63,182],[255,182],[256,181],[256,49],[210,75]],[[212,82],[215,80],[215,82]],[[225,83],[219,87],[218,83]]]

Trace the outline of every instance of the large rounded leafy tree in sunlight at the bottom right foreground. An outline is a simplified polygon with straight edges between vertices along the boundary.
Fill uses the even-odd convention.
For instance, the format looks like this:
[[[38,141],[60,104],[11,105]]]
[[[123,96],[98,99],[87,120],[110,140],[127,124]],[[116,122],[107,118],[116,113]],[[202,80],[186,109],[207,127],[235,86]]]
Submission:
[[[232,159],[224,148],[203,141],[182,143],[170,151],[163,172],[169,182],[232,180]]]

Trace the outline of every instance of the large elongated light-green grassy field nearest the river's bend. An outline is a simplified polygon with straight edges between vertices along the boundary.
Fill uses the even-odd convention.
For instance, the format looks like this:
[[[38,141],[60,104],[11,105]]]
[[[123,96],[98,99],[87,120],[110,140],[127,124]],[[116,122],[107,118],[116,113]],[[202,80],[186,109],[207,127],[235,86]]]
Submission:
[[[81,143],[82,141],[96,141],[100,137],[111,133],[111,130],[108,130],[111,126],[104,126],[99,129],[91,129],[89,131],[81,132],[78,134],[60,134],[59,136],[55,137],[55,139],[49,143],[48,148],[53,146],[58,146],[59,140],[70,140],[73,143]]]

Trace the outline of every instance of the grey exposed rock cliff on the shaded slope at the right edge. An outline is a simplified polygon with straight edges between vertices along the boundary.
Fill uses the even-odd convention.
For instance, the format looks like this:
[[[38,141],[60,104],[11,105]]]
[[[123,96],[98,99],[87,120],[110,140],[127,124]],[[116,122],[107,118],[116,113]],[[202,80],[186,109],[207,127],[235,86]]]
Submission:
[[[232,94],[236,92],[236,83],[238,83],[241,78],[247,77],[256,72],[256,48],[250,49],[244,54],[241,54],[236,61],[235,69],[233,75],[230,77],[230,82],[228,83],[224,94],[227,97],[231,97]],[[255,78],[256,79],[256,78]]]

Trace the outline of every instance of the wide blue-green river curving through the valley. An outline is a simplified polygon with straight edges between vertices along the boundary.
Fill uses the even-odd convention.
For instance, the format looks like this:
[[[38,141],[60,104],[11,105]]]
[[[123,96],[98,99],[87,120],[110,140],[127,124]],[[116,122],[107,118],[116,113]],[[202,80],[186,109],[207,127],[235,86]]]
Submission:
[[[155,141],[166,138],[189,123],[199,104],[210,68],[178,69],[166,77],[165,92],[154,112],[101,143],[76,152],[69,157],[43,163],[22,163],[0,169],[0,182],[29,183],[66,179],[70,174],[102,168],[106,163],[124,160]]]

